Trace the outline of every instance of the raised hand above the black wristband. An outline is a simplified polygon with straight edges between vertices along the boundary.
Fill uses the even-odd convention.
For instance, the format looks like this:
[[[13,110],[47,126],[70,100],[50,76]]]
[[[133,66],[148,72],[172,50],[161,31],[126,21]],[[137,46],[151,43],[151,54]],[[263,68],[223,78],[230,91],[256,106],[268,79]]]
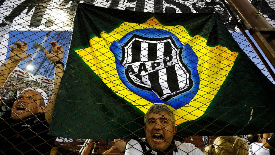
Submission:
[[[52,45],[52,53],[49,53],[48,50],[45,50],[45,55],[51,62],[61,61],[63,58],[63,47],[58,45],[56,41],[50,42]]]

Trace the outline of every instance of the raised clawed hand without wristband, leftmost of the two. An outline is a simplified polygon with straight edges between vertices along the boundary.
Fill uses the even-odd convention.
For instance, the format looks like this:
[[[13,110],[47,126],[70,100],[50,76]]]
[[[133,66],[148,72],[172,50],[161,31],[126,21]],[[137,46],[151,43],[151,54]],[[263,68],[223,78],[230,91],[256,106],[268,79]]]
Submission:
[[[16,48],[12,45],[9,46],[11,48],[11,52],[9,54],[9,59],[13,62],[20,62],[22,60],[25,60],[26,58],[30,57],[32,53],[26,54],[27,51],[27,42],[24,40],[22,41],[24,45],[21,42],[15,42],[14,45],[16,45]]]

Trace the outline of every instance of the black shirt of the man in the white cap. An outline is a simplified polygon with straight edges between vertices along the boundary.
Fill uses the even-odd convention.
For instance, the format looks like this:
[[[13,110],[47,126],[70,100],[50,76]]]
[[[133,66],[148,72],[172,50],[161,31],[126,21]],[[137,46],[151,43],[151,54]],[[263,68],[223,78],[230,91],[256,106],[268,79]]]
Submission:
[[[44,113],[16,121],[7,110],[0,117],[0,154],[50,154],[56,137],[48,135],[49,124]]]

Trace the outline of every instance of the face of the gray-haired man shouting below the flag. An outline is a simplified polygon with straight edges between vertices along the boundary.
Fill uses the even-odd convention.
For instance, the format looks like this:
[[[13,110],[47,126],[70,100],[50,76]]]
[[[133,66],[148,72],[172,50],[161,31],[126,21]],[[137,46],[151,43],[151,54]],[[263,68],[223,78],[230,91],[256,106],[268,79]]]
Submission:
[[[166,112],[150,113],[145,125],[146,139],[156,151],[166,150],[175,135],[177,128],[173,125]]]

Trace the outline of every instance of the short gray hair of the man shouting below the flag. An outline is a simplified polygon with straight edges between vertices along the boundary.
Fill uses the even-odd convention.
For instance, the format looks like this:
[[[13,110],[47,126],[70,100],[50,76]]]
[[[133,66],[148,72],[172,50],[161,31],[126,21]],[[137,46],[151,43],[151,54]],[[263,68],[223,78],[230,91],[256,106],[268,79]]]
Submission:
[[[144,125],[146,125],[146,121],[148,120],[148,115],[150,113],[161,113],[161,112],[166,112],[167,114],[169,114],[170,121],[172,121],[173,125],[175,125],[175,115],[166,105],[162,105],[162,104],[154,104],[149,108],[149,110],[144,116]]]

